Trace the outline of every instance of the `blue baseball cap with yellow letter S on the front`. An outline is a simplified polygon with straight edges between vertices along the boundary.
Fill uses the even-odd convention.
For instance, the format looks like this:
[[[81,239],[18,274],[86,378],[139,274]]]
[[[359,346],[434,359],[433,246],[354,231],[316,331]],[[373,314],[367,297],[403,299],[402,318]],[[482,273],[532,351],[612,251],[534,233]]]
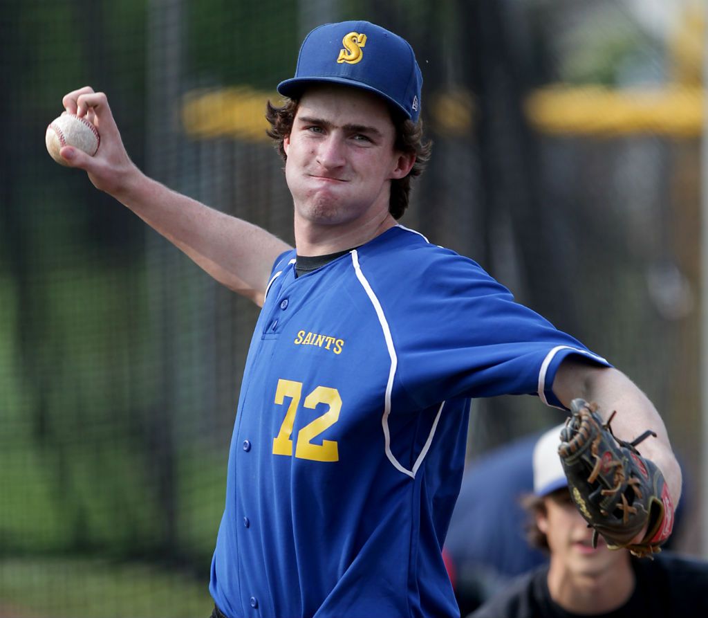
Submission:
[[[374,92],[416,122],[421,113],[423,75],[408,41],[368,21],[326,23],[300,47],[295,77],[278,84],[297,97],[313,82],[344,84]]]

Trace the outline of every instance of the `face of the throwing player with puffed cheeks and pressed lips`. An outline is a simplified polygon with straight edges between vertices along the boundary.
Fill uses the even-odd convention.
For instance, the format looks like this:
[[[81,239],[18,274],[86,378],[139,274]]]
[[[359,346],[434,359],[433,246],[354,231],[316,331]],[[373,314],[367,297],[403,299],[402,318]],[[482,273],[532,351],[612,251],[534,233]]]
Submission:
[[[295,220],[326,230],[385,217],[392,179],[413,157],[394,151],[395,129],[378,96],[336,84],[311,86],[285,139],[285,176]]]

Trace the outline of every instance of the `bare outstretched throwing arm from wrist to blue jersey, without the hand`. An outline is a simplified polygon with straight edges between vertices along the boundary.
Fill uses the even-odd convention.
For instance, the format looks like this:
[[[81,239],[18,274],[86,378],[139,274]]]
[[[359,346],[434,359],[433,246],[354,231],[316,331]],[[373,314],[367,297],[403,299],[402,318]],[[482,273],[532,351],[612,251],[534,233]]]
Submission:
[[[172,191],[137,168],[112,194],[219,283],[263,303],[273,260],[290,248],[285,242]]]

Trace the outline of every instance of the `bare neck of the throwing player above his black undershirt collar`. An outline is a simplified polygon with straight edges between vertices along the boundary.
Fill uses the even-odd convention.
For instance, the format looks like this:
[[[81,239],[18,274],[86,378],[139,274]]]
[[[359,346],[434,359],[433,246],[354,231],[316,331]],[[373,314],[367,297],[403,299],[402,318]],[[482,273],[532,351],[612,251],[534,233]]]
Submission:
[[[295,214],[295,247],[298,255],[327,255],[360,247],[386,230],[394,227],[396,220],[388,213],[379,213],[355,225],[327,225],[299,218]]]

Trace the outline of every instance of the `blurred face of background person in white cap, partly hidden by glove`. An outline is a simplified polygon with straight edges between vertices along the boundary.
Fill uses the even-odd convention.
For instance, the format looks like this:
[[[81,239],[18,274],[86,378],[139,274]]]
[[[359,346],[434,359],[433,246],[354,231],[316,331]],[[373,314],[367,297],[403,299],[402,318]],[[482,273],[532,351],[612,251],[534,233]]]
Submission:
[[[537,515],[537,524],[546,534],[551,561],[570,578],[599,577],[621,563],[629,566],[627,551],[612,551],[600,536],[593,549],[593,531],[573,504],[567,490],[544,498],[545,513]]]

